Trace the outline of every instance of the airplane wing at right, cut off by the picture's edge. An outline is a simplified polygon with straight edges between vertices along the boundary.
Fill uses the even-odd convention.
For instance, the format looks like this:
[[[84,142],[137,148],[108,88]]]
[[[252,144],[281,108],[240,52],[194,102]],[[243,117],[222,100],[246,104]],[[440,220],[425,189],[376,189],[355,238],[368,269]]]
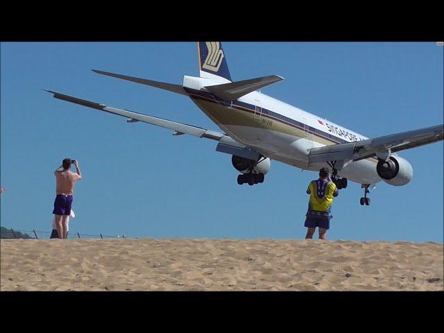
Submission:
[[[437,125],[375,139],[313,148],[309,153],[309,164],[329,161],[343,161],[346,164],[375,156],[386,160],[391,153],[441,141],[444,139],[443,133],[444,125]]]

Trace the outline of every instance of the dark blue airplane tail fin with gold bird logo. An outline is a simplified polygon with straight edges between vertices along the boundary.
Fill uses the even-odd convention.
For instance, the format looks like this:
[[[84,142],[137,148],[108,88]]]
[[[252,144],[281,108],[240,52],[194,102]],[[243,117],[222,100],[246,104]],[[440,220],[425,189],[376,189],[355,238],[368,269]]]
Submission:
[[[232,82],[221,42],[198,42],[201,78]]]

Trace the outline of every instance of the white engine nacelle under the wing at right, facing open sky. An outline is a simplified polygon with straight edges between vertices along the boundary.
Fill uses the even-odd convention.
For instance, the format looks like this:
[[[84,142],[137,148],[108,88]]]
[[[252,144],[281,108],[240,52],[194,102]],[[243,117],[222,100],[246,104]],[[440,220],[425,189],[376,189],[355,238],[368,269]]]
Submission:
[[[379,160],[376,172],[384,182],[393,186],[406,185],[413,178],[410,163],[399,156],[391,156],[387,161]]]

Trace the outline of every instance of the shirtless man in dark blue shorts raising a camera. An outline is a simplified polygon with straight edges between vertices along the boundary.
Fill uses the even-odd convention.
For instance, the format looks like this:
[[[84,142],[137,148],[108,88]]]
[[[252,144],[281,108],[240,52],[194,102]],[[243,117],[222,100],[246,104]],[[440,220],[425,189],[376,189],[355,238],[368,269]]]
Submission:
[[[70,171],[71,163],[76,166],[77,173]],[[71,214],[72,195],[74,183],[82,179],[82,173],[78,169],[78,162],[65,158],[62,165],[54,171],[56,176],[56,200],[54,200],[53,214],[56,218],[58,238],[67,238],[67,217]]]

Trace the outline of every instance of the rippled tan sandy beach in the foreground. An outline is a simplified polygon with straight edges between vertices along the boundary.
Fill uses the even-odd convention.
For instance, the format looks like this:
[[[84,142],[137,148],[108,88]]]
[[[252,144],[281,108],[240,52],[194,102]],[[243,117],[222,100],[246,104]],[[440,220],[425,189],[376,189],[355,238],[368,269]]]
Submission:
[[[443,244],[1,239],[1,291],[443,291]]]

